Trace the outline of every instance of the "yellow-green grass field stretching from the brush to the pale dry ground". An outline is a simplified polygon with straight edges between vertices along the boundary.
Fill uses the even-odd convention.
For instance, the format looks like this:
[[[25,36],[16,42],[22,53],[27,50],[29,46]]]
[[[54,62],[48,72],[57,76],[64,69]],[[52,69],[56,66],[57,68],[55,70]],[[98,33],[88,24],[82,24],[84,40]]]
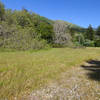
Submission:
[[[100,48],[0,52],[0,99],[28,95],[59,79],[68,68],[99,57]]]

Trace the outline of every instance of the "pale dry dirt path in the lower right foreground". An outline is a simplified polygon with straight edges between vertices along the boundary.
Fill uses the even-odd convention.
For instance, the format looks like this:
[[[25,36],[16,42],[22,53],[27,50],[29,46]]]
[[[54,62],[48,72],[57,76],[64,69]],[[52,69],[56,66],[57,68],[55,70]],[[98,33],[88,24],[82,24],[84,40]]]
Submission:
[[[61,80],[33,91],[27,100],[100,100],[100,82],[89,76],[99,70],[95,66],[97,63],[74,67],[63,73]]]

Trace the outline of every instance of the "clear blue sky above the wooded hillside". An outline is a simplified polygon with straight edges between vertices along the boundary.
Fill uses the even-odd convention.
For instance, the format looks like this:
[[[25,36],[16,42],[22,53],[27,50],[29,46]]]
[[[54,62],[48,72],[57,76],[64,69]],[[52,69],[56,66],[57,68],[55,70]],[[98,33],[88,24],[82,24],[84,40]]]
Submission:
[[[100,25],[100,0],[1,0],[6,8],[25,7],[53,20],[65,20],[83,27]]]

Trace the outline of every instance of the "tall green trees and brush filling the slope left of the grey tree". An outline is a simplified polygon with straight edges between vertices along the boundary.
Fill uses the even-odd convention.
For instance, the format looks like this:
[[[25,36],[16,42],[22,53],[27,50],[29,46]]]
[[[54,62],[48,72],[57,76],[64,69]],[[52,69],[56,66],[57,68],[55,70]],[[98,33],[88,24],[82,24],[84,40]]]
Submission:
[[[0,3],[0,46],[18,50],[48,47],[53,38],[53,23],[26,9],[5,10]]]

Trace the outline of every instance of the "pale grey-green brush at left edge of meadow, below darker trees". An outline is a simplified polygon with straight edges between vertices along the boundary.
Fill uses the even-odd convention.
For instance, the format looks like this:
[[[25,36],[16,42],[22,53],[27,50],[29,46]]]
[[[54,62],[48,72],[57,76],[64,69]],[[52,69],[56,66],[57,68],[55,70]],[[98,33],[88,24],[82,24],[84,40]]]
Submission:
[[[38,38],[32,27],[22,28],[17,25],[2,23],[0,28],[0,46],[8,49],[29,50],[46,48],[47,41]]]

